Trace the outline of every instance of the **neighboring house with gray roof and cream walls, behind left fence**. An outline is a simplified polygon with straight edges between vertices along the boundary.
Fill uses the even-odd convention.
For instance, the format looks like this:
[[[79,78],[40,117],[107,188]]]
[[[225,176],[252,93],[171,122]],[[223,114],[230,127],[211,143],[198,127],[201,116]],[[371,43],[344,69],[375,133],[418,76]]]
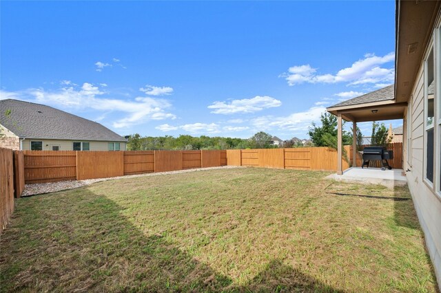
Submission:
[[[0,100],[0,147],[35,151],[124,151],[126,140],[103,125],[59,109]]]

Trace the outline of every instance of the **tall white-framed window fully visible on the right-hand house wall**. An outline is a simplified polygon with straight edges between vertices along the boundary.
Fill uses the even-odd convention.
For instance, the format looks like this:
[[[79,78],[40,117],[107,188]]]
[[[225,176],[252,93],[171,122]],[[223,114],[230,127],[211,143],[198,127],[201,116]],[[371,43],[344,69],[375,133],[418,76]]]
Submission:
[[[431,184],[433,184],[433,165],[435,162],[435,136],[433,133],[436,92],[435,85],[435,61],[432,47],[426,61],[424,62],[424,178]]]

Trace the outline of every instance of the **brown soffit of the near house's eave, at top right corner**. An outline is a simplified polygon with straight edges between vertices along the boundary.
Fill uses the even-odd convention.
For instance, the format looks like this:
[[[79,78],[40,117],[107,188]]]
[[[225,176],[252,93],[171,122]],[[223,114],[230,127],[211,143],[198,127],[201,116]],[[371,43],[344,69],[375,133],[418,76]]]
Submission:
[[[440,8],[441,1],[396,1],[397,102],[409,100]]]

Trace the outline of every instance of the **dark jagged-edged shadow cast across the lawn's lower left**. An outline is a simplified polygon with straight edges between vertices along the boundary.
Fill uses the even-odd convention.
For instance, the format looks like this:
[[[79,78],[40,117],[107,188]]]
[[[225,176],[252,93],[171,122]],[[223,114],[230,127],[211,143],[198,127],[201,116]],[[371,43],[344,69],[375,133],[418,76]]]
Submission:
[[[19,199],[0,240],[0,287],[30,291],[337,292],[281,261],[234,285],[88,188]]]

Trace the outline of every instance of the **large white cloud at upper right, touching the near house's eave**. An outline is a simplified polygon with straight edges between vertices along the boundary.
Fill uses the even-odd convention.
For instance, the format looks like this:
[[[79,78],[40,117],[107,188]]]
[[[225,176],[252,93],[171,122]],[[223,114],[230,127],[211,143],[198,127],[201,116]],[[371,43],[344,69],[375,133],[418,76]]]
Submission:
[[[384,56],[365,54],[364,58],[354,62],[351,67],[340,69],[336,74],[317,74],[317,69],[308,64],[289,67],[288,72],[280,76],[285,77],[290,86],[301,83],[391,83],[395,77],[393,64],[391,68],[382,68],[380,65],[392,63],[394,60],[393,52]]]

